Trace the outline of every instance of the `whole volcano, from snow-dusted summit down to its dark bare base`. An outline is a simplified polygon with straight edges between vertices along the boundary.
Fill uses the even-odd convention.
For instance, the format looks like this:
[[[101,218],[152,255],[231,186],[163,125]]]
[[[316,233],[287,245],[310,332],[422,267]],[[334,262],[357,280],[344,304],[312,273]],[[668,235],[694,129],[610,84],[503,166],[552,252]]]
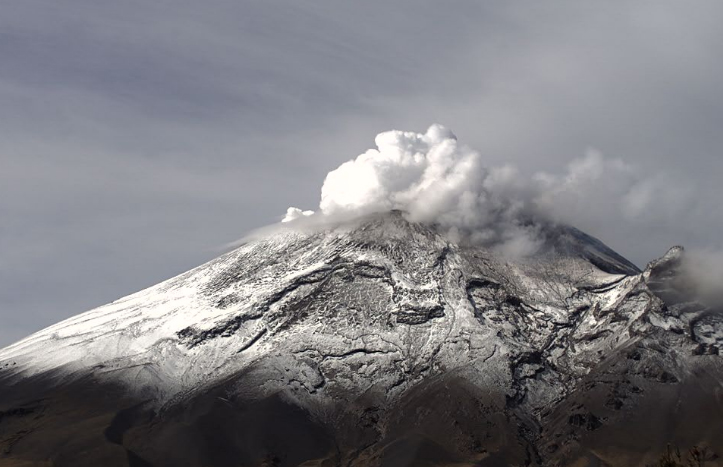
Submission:
[[[0,465],[723,465],[719,315],[549,228],[508,262],[399,213],[250,242],[0,352]]]

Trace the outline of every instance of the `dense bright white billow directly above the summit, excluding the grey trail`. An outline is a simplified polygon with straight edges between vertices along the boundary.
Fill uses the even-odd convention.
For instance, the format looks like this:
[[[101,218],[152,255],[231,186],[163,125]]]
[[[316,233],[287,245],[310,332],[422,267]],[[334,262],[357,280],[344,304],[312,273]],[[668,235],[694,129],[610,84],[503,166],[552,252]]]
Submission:
[[[510,254],[533,253],[532,191],[511,166],[484,166],[479,152],[441,125],[425,133],[388,131],[377,148],[329,172],[319,208],[326,216],[394,209],[409,220],[434,223],[453,236],[499,246]]]

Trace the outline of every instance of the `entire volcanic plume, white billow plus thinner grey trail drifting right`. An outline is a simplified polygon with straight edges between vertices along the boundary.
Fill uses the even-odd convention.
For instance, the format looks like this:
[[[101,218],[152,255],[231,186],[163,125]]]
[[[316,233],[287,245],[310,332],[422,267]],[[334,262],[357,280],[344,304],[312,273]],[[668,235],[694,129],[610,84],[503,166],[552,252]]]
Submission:
[[[380,133],[375,144],[327,174],[317,213],[289,208],[284,222],[401,210],[453,238],[524,257],[544,242],[545,224],[570,224],[595,235],[602,222],[665,223],[686,209],[692,195],[664,173],[641,171],[595,149],[561,170],[530,174],[513,165],[486,165],[480,152],[438,124],[424,133]]]

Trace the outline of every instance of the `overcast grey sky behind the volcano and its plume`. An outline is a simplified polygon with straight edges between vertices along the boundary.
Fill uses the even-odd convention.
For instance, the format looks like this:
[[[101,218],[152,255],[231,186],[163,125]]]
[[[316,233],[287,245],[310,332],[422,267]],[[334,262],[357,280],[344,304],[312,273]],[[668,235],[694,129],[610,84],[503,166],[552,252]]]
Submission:
[[[378,133],[434,123],[525,177],[607,161],[563,207],[639,266],[677,244],[718,254],[722,17],[718,1],[7,2],[0,346],[317,209]],[[622,213],[602,183],[618,176],[644,200]]]

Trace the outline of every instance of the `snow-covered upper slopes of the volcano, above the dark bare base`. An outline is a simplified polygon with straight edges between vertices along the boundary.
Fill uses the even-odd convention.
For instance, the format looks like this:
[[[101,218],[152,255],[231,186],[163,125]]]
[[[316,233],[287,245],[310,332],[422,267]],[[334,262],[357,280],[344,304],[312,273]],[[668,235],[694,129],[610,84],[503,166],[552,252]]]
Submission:
[[[92,372],[158,404],[246,372],[253,388],[239,391],[284,390],[306,405],[370,388],[394,398],[458,371],[479,387],[524,390],[539,409],[602,352],[693,317],[648,293],[649,270],[560,232],[564,242],[508,262],[396,212],[321,231],[289,222],[3,349],[0,369],[58,382]],[[723,340],[719,325],[701,326],[708,344]],[[540,359],[556,370],[526,378]]]

